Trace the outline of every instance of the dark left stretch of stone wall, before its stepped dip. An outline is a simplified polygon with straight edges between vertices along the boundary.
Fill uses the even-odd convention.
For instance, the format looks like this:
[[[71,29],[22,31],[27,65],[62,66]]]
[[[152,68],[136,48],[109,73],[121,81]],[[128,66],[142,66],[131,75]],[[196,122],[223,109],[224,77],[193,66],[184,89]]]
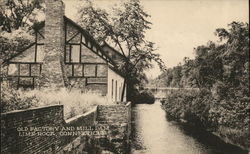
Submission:
[[[19,110],[1,114],[1,153],[53,153],[60,144],[58,136],[21,136],[20,129],[61,126],[63,106]]]

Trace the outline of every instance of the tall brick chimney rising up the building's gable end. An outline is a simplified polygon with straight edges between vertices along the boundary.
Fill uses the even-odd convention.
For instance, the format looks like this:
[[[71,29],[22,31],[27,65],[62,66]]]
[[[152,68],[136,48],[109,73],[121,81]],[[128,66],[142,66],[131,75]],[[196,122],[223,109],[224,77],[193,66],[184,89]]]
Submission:
[[[59,89],[65,86],[64,75],[64,3],[45,0],[45,44],[40,88]]]

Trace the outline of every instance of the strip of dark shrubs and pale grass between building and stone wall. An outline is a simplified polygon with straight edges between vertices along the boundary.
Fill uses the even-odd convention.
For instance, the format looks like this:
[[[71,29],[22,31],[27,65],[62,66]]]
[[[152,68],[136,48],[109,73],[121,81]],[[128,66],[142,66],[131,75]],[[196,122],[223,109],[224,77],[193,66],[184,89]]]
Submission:
[[[2,91],[1,113],[32,107],[64,105],[64,118],[85,113],[96,105],[107,104],[107,99],[93,92],[81,93],[78,90],[14,90],[4,88]]]

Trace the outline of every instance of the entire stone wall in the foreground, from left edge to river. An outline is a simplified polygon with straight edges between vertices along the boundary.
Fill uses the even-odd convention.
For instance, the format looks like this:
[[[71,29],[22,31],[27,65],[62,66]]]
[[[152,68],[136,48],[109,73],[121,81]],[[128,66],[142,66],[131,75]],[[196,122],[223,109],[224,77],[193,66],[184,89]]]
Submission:
[[[68,120],[54,105],[1,114],[1,153],[128,153],[131,104],[100,105]],[[105,136],[20,136],[31,127],[108,126]],[[29,132],[29,131],[27,131]]]

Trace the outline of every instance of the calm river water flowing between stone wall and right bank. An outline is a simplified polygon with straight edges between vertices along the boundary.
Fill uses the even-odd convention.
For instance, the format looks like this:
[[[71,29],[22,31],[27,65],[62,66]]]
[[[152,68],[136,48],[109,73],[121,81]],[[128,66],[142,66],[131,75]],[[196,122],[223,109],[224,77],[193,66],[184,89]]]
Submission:
[[[160,102],[132,111],[132,154],[247,154],[206,131],[168,121]]]

